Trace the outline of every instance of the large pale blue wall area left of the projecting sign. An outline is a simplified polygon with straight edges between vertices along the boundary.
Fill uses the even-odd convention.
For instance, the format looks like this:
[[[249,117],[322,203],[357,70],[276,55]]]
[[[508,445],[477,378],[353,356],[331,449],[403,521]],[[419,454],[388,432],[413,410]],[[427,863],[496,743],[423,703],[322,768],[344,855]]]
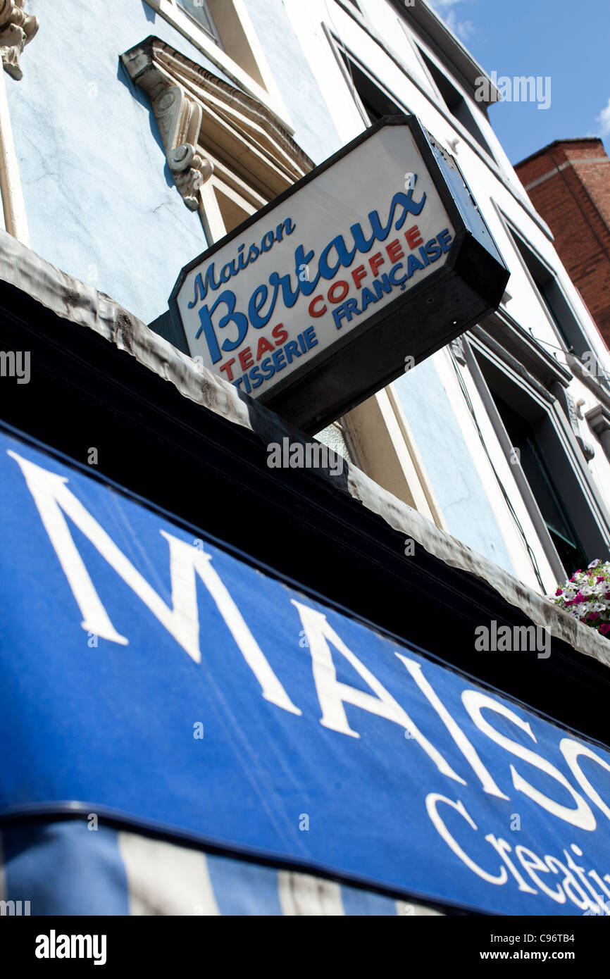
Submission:
[[[40,29],[23,80],[5,77],[31,247],[150,322],[206,239],[118,56],[155,34],[220,72],[142,0],[28,0],[27,10]]]

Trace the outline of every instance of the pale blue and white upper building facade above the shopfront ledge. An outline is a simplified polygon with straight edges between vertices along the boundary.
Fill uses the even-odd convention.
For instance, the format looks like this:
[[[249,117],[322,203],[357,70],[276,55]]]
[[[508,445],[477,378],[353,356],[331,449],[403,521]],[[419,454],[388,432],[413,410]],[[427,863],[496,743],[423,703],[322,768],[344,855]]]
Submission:
[[[57,102],[43,114],[40,93],[59,43],[51,31],[75,17],[79,34],[99,34],[93,10],[58,14],[23,55],[29,72],[10,80],[29,237],[38,254],[152,323],[179,268],[207,243],[370,120],[414,113],[476,188],[511,278],[493,322],[480,324],[467,350],[455,345],[405,374],[340,421],[343,434],[333,438],[345,436],[353,461],[385,489],[549,591],[564,570],[607,553],[608,457],[584,418],[608,407],[607,352],[475,99],[482,69],[419,6],[338,4],[338,38],[323,6],[302,24],[290,5],[237,4],[226,24],[226,10],[216,12],[220,26],[210,33],[211,7],[126,5],[108,25],[112,43],[120,37],[119,66],[110,67],[110,53],[84,57],[74,42],[53,66]],[[237,49],[222,42],[223,31],[241,39]],[[113,50],[110,36],[98,45]],[[34,118],[34,129],[44,127],[37,146]],[[171,154],[191,139],[195,165],[184,168]],[[59,172],[47,170],[49,157]],[[529,365],[527,382],[511,372],[511,358]],[[516,416],[502,417],[505,404]],[[528,453],[529,473],[510,461],[517,432],[540,448]]]

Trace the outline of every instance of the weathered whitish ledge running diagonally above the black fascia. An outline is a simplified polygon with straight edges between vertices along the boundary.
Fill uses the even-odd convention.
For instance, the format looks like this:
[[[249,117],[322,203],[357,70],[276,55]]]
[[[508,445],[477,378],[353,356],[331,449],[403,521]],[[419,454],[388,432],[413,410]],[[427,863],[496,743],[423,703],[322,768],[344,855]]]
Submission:
[[[93,286],[72,278],[36,255],[5,231],[0,231],[0,280],[21,291],[61,319],[95,332],[133,356],[139,364],[170,382],[181,396],[202,405],[226,421],[249,429],[261,442],[310,442],[279,416],[239,394],[192,357],[176,350],[145,323]],[[508,575],[487,558],[437,528],[426,517],[379,487],[350,465],[340,486],[323,469],[308,474],[328,481],[337,492],[350,493],[394,531],[411,537],[429,554],[450,567],[488,583],[509,605],[520,609],[536,626],[575,650],[610,667],[610,645],[594,629],[562,611],[524,583]]]

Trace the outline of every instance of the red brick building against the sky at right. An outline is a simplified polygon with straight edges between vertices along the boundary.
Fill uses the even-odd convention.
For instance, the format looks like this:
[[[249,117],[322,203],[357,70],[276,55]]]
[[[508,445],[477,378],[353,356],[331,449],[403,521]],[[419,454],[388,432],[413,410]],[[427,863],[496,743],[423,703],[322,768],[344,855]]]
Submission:
[[[610,159],[601,140],[555,140],[515,169],[610,347]]]

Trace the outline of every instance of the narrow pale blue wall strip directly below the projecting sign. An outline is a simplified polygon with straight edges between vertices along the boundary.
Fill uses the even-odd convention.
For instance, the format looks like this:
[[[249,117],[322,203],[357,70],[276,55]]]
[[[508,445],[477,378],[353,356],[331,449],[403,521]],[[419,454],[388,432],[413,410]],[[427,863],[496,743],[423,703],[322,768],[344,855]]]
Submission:
[[[394,382],[393,390],[443,510],[449,533],[515,574],[477,465],[431,359]]]

